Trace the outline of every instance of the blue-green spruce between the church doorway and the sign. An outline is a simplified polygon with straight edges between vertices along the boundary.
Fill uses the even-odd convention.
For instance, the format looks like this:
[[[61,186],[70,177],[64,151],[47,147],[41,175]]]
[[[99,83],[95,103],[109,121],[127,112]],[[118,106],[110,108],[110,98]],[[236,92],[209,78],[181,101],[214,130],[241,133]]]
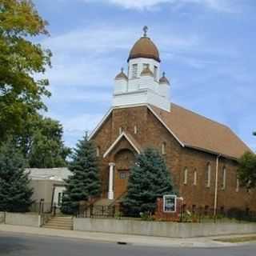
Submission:
[[[173,193],[170,171],[158,150],[149,148],[138,154],[130,173],[126,198],[122,201],[126,214],[152,214],[157,198],[170,193]]]

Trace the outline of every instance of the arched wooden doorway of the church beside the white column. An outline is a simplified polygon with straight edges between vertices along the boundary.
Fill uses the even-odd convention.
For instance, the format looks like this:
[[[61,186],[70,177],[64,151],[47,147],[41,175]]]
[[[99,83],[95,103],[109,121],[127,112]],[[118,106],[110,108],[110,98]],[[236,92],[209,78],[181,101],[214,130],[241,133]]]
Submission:
[[[114,155],[114,198],[120,198],[126,192],[130,168],[134,165],[134,161],[132,150],[122,149]]]

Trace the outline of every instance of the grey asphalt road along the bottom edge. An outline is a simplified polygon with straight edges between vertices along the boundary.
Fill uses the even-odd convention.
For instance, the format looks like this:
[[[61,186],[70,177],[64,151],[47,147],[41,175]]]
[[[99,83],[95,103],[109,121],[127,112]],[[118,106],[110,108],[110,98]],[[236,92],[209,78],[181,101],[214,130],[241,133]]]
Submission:
[[[0,255],[8,256],[255,256],[256,244],[229,248],[170,248],[118,245],[78,239],[0,232]]]

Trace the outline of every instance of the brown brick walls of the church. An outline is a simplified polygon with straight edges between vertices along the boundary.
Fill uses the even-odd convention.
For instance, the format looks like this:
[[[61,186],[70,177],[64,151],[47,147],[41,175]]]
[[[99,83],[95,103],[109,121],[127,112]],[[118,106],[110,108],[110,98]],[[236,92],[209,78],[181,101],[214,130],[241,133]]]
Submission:
[[[137,126],[137,134],[134,134],[134,126]],[[199,150],[183,148],[146,106],[114,109],[102,128],[94,135],[93,139],[100,146],[101,151],[99,161],[102,170],[103,197],[106,197],[109,162],[114,162],[116,160],[115,156],[123,149],[128,149],[136,154],[130,143],[122,140],[107,158],[102,158],[102,154],[118,138],[119,127],[128,132],[142,149],[150,146],[161,151],[162,143],[166,143],[166,154],[163,157],[166,159],[166,164],[170,169],[175,188],[178,190],[179,195],[185,199],[186,206],[214,206],[216,156]],[[124,155],[122,158],[126,159],[126,156]],[[211,183],[209,188],[206,187],[206,166],[208,162],[211,165]],[[118,165],[120,165],[120,162]],[[225,190],[221,188],[223,166],[226,166]],[[188,182],[186,185],[183,184],[185,167],[188,169]],[[116,166],[114,176],[115,198],[126,190],[127,184],[126,181],[118,178],[118,168],[120,169],[120,167]],[[198,174],[196,186],[193,184],[195,169]],[[255,192],[248,193],[242,188],[236,192],[236,171],[236,162],[220,158],[218,207],[224,206],[226,209],[230,207],[246,209],[246,207],[249,207],[251,210],[256,210],[256,202],[253,200],[253,198],[256,198]]]

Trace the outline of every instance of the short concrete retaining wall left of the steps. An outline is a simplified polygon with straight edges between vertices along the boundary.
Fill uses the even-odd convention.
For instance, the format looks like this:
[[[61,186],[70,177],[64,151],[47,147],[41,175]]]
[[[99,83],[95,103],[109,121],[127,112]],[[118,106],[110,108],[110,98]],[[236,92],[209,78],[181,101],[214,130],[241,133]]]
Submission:
[[[18,226],[40,226],[38,214],[6,213],[6,224]]]

